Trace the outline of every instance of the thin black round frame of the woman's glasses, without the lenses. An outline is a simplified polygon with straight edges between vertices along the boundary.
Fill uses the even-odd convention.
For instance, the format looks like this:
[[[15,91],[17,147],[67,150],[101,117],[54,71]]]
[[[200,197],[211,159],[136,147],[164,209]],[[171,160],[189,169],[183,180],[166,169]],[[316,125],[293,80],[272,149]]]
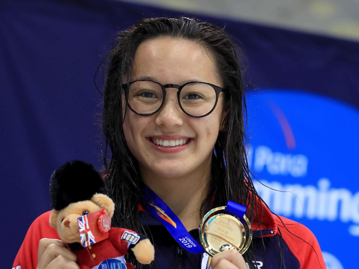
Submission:
[[[136,110],[134,110],[130,103],[129,103],[129,88],[130,88],[130,85],[134,82],[137,82],[137,81],[149,81],[149,82],[154,82],[156,84],[158,84],[161,89],[162,89],[162,93],[163,93],[163,97],[162,97],[162,103],[160,105],[160,107],[155,111],[155,112],[152,112],[150,114],[142,114],[142,113],[139,113],[137,112]],[[211,86],[215,92],[216,92],[216,102],[214,103],[214,106],[213,108],[210,110],[210,112],[208,112],[207,114],[204,114],[202,116],[194,116],[194,115],[191,115],[189,113],[187,113],[185,111],[185,109],[183,109],[182,105],[181,105],[181,101],[180,101],[180,94],[181,94],[181,90],[183,89],[183,87],[185,87],[186,85],[188,84],[193,84],[193,83],[198,83],[198,84],[207,84],[209,86]],[[202,82],[202,81],[190,81],[190,82],[186,82],[185,84],[182,84],[182,85],[178,85],[178,84],[160,84],[159,82],[157,81],[154,81],[154,80],[150,80],[150,79],[138,79],[138,80],[132,80],[132,81],[129,81],[129,82],[126,82],[126,83],[123,83],[122,84],[122,89],[125,91],[125,97],[126,97],[126,103],[127,105],[129,106],[129,108],[131,109],[132,112],[136,113],[137,115],[140,115],[140,116],[150,116],[150,115],[154,115],[156,114],[157,112],[159,112],[159,110],[161,110],[161,108],[163,107],[163,104],[164,104],[164,100],[166,98],[166,89],[167,88],[174,88],[174,89],[177,89],[177,102],[178,102],[178,105],[180,106],[181,110],[183,111],[183,113],[185,113],[186,115],[190,116],[190,117],[194,117],[194,118],[203,118],[203,117],[206,117],[208,116],[209,114],[211,114],[213,112],[213,110],[216,108],[217,106],[217,103],[218,103],[218,98],[219,98],[219,94],[224,92],[225,94],[228,93],[228,90],[224,89],[224,88],[221,88],[217,85],[214,85],[214,84],[211,84],[211,83],[208,83],[208,82]]]

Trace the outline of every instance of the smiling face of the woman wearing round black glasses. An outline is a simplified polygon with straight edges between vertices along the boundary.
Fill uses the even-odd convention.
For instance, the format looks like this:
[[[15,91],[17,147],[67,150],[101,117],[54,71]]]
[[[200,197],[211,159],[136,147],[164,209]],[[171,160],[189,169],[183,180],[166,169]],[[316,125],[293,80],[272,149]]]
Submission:
[[[193,41],[174,38],[150,39],[141,43],[137,48],[131,79],[137,80],[146,76],[152,77],[162,84],[170,82],[181,85],[188,83],[187,81],[202,81],[221,85],[222,82],[216,74],[213,57],[210,56],[211,52],[207,52],[204,46]],[[145,83],[147,86],[146,93],[157,93],[155,90],[150,90],[151,87],[148,86],[149,83],[154,84],[153,82],[145,81]],[[157,113],[151,113],[148,116],[137,115],[132,112],[127,113],[123,122],[126,143],[138,161],[142,179],[146,185],[155,191],[156,186],[163,187],[164,184],[168,184],[175,178],[176,182],[180,184],[184,184],[186,181],[197,181],[203,171],[208,171],[211,166],[213,147],[226,113],[225,98],[221,93],[218,105],[208,116],[195,118],[184,114],[178,100],[181,104],[185,103],[188,106],[188,112],[207,109],[203,114],[205,115],[214,108],[216,103],[215,90],[204,84],[209,86],[209,89],[205,87],[208,89],[205,94],[214,96],[212,98],[214,100],[208,101],[209,98],[207,98],[205,102],[202,102],[185,99],[188,94],[191,94],[192,97],[199,96],[199,92],[204,91],[201,84],[194,84],[195,86],[199,85],[199,88],[187,84],[181,89],[179,95],[177,94],[179,90],[174,88],[172,84],[167,86],[163,105],[161,105],[163,98],[157,97],[159,94],[153,94],[150,96],[151,98],[142,97],[145,99],[144,101],[136,101],[135,106],[140,109],[140,107],[146,106],[144,103],[147,99],[160,99],[157,101],[159,102],[157,108],[160,108]],[[188,94],[182,97],[182,91],[187,87],[189,87]],[[138,85],[136,88],[139,88]],[[129,90],[130,93],[131,90],[132,88]],[[162,89],[158,92],[162,93]],[[177,96],[181,97],[177,98]],[[130,104],[135,103],[132,99],[129,101]],[[210,108],[208,108],[206,101],[212,103]],[[152,103],[153,101],[147,102]],[[193,102],[193,104],[187,105],[188,102]],[[203,106],[204,108],[199,108]],[[154,140],[156,143],[153,142]],[[176,146],[177,140],[178,145]],[[208,176],[206,182],[202,182],[202,184],[202,186],[209,185]],[[169,200],[168,203],[173,201],[172,198]],[[201,204],[201,201],[197,202]],[[198,224],[191,228],[197,226]]]

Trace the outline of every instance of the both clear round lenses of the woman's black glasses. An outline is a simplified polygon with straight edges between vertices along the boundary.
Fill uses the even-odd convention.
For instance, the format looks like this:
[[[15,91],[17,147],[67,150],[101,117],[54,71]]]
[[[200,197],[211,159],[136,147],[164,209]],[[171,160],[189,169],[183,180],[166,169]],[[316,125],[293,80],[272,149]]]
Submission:
[[[140,114],[154,113],[162,104],[163,92],[160,85],[152,81],[135,81],[129,87],[128,102]],[[203,116],[209,113],[216,103],[216,91],[203,83],[190,83],[180,94],[180,103],[188,114]]]

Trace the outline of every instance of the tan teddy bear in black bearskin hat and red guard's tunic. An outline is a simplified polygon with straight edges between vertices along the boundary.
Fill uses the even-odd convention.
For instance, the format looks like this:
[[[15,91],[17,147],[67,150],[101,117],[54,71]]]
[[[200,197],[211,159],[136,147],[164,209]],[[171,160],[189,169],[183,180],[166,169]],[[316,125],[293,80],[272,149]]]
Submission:
[[[153,261],[154,247],[146,236],[125,228],[109,227],[115,204],[108,197],[104,180],[93,165],[78,160],[65,162],[51,176],[50,197],[53,208],[50,226],[77,255],[81,269],[133,268],[132,264],[126,263],[124,255],[133,255],[141,264]],[[89,241],[83,247],[81,240],[84,243],[88,238],[80,238],[78,219],[101,209],[104,212],[101,216],[107,221],[102,232],[108,239],[95,244]]]

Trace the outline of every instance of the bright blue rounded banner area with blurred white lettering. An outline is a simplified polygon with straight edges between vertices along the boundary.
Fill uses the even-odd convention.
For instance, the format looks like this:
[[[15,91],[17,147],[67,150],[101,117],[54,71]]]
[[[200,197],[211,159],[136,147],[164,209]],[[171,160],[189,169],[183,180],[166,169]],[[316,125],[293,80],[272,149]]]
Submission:
[[[345,257],[358,251],[345,242],[359,244],[359,110],[305,91],[247,96],[258,193],[275,213],[311,228],[328,268],[354,268]]]

